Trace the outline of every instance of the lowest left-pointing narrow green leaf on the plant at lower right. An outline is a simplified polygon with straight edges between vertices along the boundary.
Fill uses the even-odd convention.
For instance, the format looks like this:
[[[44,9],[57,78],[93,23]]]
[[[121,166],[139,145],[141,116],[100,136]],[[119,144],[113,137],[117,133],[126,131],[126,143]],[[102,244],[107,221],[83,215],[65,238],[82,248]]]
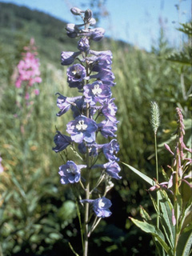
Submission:
[[[154,236],[154,238],[156,238],[158,240],[158,242],[160,243],[160,245],[162,246],[162,248],[166,251],[166,253],[169,256],[174,256],[174,254],[172,253],[172,251],[170,250],[170,246],[167,245],[167,243],[165,242],[165,238],[164,235],[162,234],[162,231],[159,230],[157,228],[157,226],[151,225],[149,223],[146,222],[140,222],[134,218],[130,218],[132,222],[134,222],[134,224],[136,226],[138,226],[141,230],[143,230],[146,233],[150,233]]]

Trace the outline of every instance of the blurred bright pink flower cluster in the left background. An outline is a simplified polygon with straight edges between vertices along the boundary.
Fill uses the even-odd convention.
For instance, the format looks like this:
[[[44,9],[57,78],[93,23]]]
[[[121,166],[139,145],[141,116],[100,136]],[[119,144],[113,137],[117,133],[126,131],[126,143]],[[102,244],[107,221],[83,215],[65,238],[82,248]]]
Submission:
[[[25,86],[25,98],[30,98],[29,87],[34,83],[42,82],[39,70],[39,61],[36,55],[36,47],[34,46],[34,38],[30,39],[30,46],[25,46],[25,53],[22,53],[22,60],[18,63],[18,78],[15,82],[15,86],[20,88],[23,82],[26,82]],[[38,95],[39,90],[34,89],[34,94]]]

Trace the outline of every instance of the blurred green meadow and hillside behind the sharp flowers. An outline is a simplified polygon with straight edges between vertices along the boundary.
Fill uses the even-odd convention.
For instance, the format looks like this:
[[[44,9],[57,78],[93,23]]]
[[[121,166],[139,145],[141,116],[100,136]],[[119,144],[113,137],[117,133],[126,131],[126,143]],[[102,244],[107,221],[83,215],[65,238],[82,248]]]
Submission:
[[[169,46],[162,28],[150,53],[109,38],[91,46],[93,50],[111,50],[114,55],[112,69],[117,85],[112,90],[120,121],[118,157],[151,178],[155,176],[151,101],[158,102],[161,111],[159,164],[165,169],[170,164],[163,142],[174,136],[176,106],[186,120],[186,146],[190,147],[191,142],[191,23],[181,25],[180,30],[186,34],[180,52]],[[26,118],[16,106],[18,90],[14,81],[23,46],[32,37],[38,46],[42,83],[30,118]],[[60,52],[76,50],[75,46],[76,40],[66,37],[64,22],[26,7],[0,3],[0,155],[4,167],[0,174],[0,242],[7,256],[62,255],[63,251],[70,256],[68,241],[76,251],[81,250],[75,198],[70,187],[59,182],[58,166],[63,160],[52,150],[56,127],[65,133],[71,119],[70,113],[56,118],[54,94],[76,94],[66,83]],[[63,158],[73,158],[68,151]],[[110,192],[113,214],[95,230],[90,253],[154,255],[150,235],[143,234],[128,219],[139,216],[139,205],[152,209],[146,184],[125,166],[121,175],[122,180],[114,181]]]

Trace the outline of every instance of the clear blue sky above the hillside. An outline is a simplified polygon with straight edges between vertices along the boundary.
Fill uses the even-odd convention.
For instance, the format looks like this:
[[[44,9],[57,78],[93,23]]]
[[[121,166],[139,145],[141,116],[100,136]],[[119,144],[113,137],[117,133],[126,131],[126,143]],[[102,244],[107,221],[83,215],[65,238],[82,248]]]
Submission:
[[[85,10],[90,0],[0,0],[18,6],[26,6],[32,10],[40,10],[51,14],[65,22],[77,23],[70,13],[71,7]],[[101,1],[103,2],[103,1]],[[104,9],[108,16],[101,18],[98,26],[106,30],[106,35],[120,39],[141,49],[150,50],[157,43],[160,24],[165,29],[171,46],[179,46],[181,32],[175,30],[179,22],[191,19],[191,0],[106,0]],[[81,23],[82,20],[79,20]]]

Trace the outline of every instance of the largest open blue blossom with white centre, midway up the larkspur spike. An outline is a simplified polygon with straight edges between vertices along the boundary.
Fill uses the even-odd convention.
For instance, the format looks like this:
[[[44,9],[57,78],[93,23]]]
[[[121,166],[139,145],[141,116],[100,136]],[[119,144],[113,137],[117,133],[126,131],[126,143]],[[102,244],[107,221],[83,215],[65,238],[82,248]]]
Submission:
[[[94,120],[81,115],[70,121],[66,126],[66,131],[74,142],[95,141],[95,131],[98,130],[98,126]]]

